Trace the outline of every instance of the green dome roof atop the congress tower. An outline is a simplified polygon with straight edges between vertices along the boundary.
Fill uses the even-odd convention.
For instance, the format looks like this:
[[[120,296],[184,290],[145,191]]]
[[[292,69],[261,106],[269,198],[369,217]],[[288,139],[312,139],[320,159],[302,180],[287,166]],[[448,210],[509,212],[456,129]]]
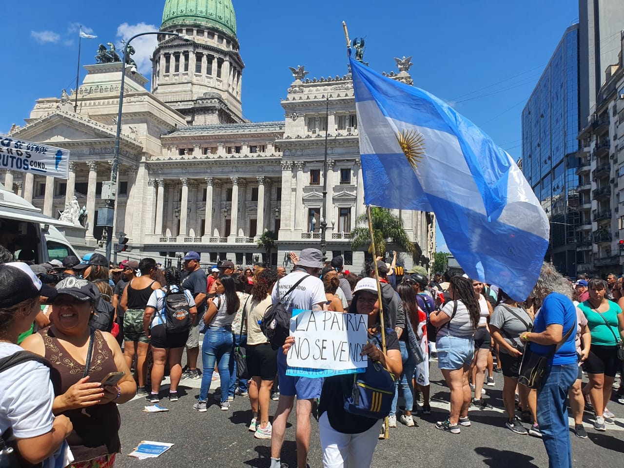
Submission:
[[[205,26],[236,37],[236,16],[232,0],[167,0],[162,26]]]

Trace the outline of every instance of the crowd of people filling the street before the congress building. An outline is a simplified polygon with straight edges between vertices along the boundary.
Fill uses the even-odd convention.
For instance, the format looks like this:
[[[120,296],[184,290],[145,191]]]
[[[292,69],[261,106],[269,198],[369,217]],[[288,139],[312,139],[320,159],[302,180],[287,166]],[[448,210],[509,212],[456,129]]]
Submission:
[[[117,404],[136,395],[157,404],[167,374],[170,402],[178,401],[181,382],[201,381],[192,406],[198,412],[208,411],[215,373],[221,410],[235,396],[248,397],[248,429],[270,439],[270,468],[283,466],[293,409],[298,468],[307,466],[314,409],[323,466],[370,466],[386,416],[390,428],[415,427],[422,422],[417,412],[431,414],[429,371],[436,363],[450,411],[435,427],[449,434],[471,426],[470,411],[492,408],[485,388],[497,373],[504,426],[541,437],[552,467],[572,466],[568,399],[580,439],[588,437],[586,408],[596,431],[615,423],[608,404],[624,358],[624,297],[615,275],[571,280],[544,263],[531,295],[512,298],[467,275],[428,278],[419,266],[404,272],[396,256],[392,263],[377,258],[360,275],[344,270],[341,256],[324,261],[312,248],[291,260],[286,274],[261,264],[240,270],[232,261],[205,271],[194,251],[182,269],[152,258],[111,265],[99,253],[28,265],[0,251],[2,456],[11,452],[6,444],[12,456],[46,468],[112,467],[120,451]],[[265,314],[278,304],[288,316],[365,315],[366,372],[289,375],[294,338],[276,345],[263,331]],[[527,369],[536,357],[542,368],[534,380]],[[366,381],[369,371],[391,379],[381,412],[349,402],[354,379]],[[623,387],[616,397],[622,404]],[[270,401],[278,401],[274,414]]]

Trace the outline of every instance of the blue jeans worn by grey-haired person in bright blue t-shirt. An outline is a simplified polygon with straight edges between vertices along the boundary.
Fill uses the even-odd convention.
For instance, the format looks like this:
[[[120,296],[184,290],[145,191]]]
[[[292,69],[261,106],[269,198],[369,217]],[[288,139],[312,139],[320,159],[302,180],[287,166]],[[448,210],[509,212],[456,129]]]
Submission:
[[[577,376],[577,364],[551,366],[546,369],[544,386],[537,391],[537,423],[548,454],[548,468],[572,468],[565,399]]]

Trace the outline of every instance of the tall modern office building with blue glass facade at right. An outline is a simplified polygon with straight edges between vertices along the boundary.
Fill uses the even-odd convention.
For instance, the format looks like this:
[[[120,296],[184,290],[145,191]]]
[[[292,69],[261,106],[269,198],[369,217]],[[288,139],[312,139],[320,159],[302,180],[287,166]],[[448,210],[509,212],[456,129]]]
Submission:
[[[576,275],[580,130],[578,24],[568,27],[522,110],[522,172],[550,220],[546,260]],[[590,222],[591,223],[591,222]]]

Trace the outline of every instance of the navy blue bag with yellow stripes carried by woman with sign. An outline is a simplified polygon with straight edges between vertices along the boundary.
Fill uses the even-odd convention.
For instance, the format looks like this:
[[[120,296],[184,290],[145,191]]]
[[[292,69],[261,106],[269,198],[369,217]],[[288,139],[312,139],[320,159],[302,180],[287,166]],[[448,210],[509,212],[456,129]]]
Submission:
[[[371,419],[390,414],[394,399],[394,374],[381,363],[368,360],[366,372],[353,374],[351,395],[344,399],[344,411]]]

